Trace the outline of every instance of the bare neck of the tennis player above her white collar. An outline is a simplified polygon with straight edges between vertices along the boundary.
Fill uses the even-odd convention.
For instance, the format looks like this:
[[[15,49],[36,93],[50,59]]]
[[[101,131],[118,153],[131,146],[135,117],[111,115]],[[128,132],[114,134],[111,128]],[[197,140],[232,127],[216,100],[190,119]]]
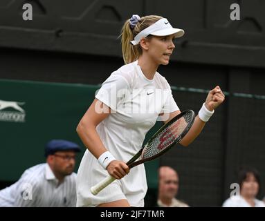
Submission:
[[[147,79],[154,79],[154,75],[158,68],[158,65],[155,64],[154,61],[150,60],[148,57],[141,56],[138,59],[138,66],[140,66],[140,69]]]

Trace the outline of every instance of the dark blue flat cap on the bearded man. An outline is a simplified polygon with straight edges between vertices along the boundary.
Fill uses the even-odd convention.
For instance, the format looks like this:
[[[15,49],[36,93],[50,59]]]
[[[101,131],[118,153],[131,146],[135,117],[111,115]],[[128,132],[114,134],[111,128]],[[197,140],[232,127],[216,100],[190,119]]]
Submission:
[[[80,152],[80,147],[68,140],[51,140],[46,144],[45,157],[54,154],[56,151],[75,151]]]

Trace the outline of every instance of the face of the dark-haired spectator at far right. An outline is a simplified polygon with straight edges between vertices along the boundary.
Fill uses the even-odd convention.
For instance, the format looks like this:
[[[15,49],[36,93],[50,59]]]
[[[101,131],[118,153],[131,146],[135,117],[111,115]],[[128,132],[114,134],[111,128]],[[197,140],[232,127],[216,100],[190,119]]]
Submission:
[[[248,173],[246,179],[241,185],[241,195],[248,198],[255,198],[259,191],[259,184],[253,175],[253,173]]]

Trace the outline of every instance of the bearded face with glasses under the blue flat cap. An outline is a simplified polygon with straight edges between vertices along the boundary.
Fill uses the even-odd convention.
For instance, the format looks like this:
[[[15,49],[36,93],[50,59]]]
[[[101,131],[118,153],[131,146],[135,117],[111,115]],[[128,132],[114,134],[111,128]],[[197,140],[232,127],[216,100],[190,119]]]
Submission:
[[[49,157],[51,168],[55,174],[65,176],[73,173],[73,169],[75,168],[74,151],[57,151]]]

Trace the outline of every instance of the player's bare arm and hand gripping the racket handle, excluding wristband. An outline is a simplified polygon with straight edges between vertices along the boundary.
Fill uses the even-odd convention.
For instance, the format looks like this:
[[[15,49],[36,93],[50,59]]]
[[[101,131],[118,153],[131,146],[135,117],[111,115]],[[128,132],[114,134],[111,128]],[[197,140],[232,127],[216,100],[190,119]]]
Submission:
[[[95,128],[100,122],[109,117],[110,114],[111,108],[95,98],[76,128],[77,134],[84,146],[86,146],[97,159],[102,153],[107,151],[107,148],[100,140],[100,136]],[[129,173],[129,167],[125,162],[113,160],[107,166],[107,171],[116,179],[120,179]]]

